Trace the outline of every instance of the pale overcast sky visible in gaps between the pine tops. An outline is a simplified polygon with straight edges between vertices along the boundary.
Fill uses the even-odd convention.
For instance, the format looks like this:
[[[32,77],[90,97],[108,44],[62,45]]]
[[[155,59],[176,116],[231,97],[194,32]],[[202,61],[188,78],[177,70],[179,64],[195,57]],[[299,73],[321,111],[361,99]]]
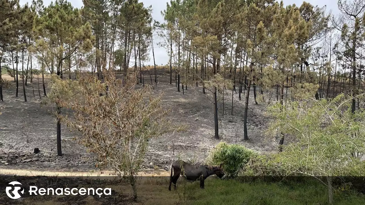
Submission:
[[[82,0],[68,0],[74,7],[81,8],[83,6]],[[164,17],[161,15],[161,11],[166,8],[166,3],[170,2],[170,0],[139,0],[143,2],[145,7],[152,5],[153,13],[152,18],[157,20],[158,22],[164,22]],[[20,0],[20,4],[24,5],[25,3],[31,4],[31,0]],[[303,0],[283,0],[284,5],[291,5],[296,4],[300,6],[303,3]],[[312,5],[318,5],[319,7],[326,6],[326,11],[331,11],[333,14],[338,14],[338,7],[337,1],[335,0],[306,0],[306,2]],[[45,6],[51,3],[51,0],[43,0]],[[156,36],[156,35],[154,35]],[[161,42],[162,39],[158,39],[158,37],[154,37],[153,44],[154,44],[154,53],[155,53],[155,62],[156,65],[166,64],[169,61],[168,53],[165,48],[160,47],[157,43]],[[150,59],[149,61],[144,63],[145,65],[153,65],[153,56],[152,51],[150,52]]]

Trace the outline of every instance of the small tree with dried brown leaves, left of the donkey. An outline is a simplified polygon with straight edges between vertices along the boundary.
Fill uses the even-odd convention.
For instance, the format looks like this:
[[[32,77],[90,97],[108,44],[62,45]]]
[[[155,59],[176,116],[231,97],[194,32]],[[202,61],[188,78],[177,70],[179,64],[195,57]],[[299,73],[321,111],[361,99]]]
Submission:
[[[81,132],[83,136],[76,139],[97,154],[97,166],[111,167],[117,175],[128,177],[134,187],[148,140],[184,127],[166,118],[169,110],[161,107],[162,94],[153,96],[150,86],[135,88],[135,74],[128,77],[124,87],[114,71],[106,71],[104,76],[104,83],[89,74],[80,74],[78,81],[53,76],[48,98],[74,111],[73,117],[59,117]]]

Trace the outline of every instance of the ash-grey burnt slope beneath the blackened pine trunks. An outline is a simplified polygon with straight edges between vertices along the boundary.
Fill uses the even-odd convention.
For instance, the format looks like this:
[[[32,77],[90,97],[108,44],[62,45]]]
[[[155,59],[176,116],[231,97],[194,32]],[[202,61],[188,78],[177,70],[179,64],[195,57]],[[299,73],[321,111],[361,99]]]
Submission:
[[[151,71],[150,71],[151,72]],[[163,105],[172,108],[169,117],[175,123],[187,124],[188,130],[181,133],[161,136],[150,140],[147,153],[146,169],[169,170],[170,163],[181,155],[181,158],[191,162],[203,162],[208,151],[223,140],[227,143],[237,143],[258,152],[272,152],[276,149],[278,139],[267,139],[263,132],[267,128],[268,118],[265,116],[267,103],[255,105],[253,92],[250,93],[248,124],[249,140],[243,140],[243,111],[244,96],[238,99],[238,93],[233,97],[233,115],[231,115],[232,92],[226,91],[223,100],[219,101],[219,135],[214,138],[214,114],[212,94],[202,93],[202,87],[188,86],[184,94],[177,92],[174,81],[169,84],[168,70],[158,70],[158,84],[154,85],[154,93],[164,92]],[[67,77],[67,76],[65,76]],[[12,80],[10,76],[5,78]],[[174,78],[174,75],[173,75]],[[152,76],[153,79],[153,76]],[[47,79],[49,82],[49,79]],[[145,75],[145,83],[150,77]],[[64,156],[57,156],[56,122],[54,116],[41,108],[38,95],[37,78],[34,79],[33,96],[32,84],[28,80],[26,86],[27,102],[24,102],[21,80],[19,78],[19,96],[15,97],[15,83],[10,88],[4,88],[5,105],[0,116],[0,169],[31,169],[44,171],[91,171],[94,166],[93,154],[72,138],[79,135],[70,132],[62,125],[62,152]],[[42,85],[41,85],[42,89]],[[41,96],[43,97],[42,90]],[[222,97],[222,95],[220,95]],[[39,154],[32,154],[34,148],[39,148]]]

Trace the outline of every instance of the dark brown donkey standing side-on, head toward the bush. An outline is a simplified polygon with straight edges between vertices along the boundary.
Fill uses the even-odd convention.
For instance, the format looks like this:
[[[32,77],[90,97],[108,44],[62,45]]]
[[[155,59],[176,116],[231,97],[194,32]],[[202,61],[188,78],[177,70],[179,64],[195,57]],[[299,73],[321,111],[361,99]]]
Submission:
[[[174,170],[174,175],[172,175],[172,170]],[[224,176],[222,163],[219,166],[191,165],[189,163],[183,161],[179,162],[176,160],[171,166],[169,190],[171,191],[171,183],[176,189],[176,182],[180,175],[182,175],[188,182],[195,182],[199,179],[200,188],[204,189],[204,180],[213,174],[217,175],[219,178]]]

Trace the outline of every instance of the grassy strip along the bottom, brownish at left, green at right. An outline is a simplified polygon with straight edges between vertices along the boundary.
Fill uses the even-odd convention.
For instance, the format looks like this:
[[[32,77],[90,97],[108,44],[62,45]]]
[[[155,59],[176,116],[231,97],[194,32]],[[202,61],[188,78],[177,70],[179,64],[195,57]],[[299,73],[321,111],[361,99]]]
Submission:
[[[134,205],[327,205],[327,189],[315,180],[305,183],[255,181],[250,183],[235,180],[207,179],[205,189],[199,182],[188,183],[181,177],[177,190],[168,190],[168,177],[143,177],[138,179],[138,200],[132,200],[131,186],[127,183],[106,185],[123,204]],[[86,197],[86,196],[84,196]],[[59,196],[58,196],[59,198]],[[80,199],[77,197],[27,198],[22,204],[105,204],[102,198]],[[63,200],[62,200],[63,198]],[[109,201],[114,201],[112,198]],[[78,203],[77,203],[78,202]],[[334,193],[335,205],[363,205],[365,196],[356,192]],[[118,204],[118,202],[116,202]]]

